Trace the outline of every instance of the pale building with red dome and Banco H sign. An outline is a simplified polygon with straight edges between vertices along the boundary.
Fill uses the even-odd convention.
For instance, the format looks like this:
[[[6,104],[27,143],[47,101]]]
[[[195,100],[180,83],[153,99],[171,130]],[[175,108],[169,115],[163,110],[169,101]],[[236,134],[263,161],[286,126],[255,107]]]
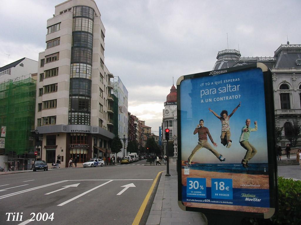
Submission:
[[[164,102],[163,109],[163,121],[162,121],[162,143],[164,146],[164,154],[166,154],[166,139],[165,139],[165,129],[169,128],[169,144],[173,142],[173,152],[169,151],[170,162],[173,162],[172,157],[178,156],[178,125],[177,125],[177,89],[172,84],[170,93],[166,96],[166,102]],[[169,148],[170,149],[170,148]],[[174,159],[175,161],[176,159]]]

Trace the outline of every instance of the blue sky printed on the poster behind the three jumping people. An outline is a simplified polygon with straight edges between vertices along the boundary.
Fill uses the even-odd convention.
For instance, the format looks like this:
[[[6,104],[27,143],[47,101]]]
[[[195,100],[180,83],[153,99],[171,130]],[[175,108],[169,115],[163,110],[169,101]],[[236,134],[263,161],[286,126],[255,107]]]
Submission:
[[[186,161],[197,145],[198,135],[193,135],[193,132],[199,120],[203,119],[204,126],[209,129],[214,142],[218,145],[216,150],[226,158],[225,163],[240,163],[246,150],[240,146],[238,140],[246,119],[250,119],[250,127],[254,128],[254,121],[257,121],[258,130],[251,132],[249,142],[258,152],[249,164],[268,161],[264,84],[261,69],[186,79],[181,82],[180,91],[182,160]],[[220,141],[221,121],[209,112],[208,108],[210,107],[218,115],[222,110],[227,110],[230,115],[239,102],[241,106],[230,118],[232,146],[227,149]],[[209,137],[207,138],[212,145]],[[194,155],[192,161],[220,163],[209,150],[204,148]]]

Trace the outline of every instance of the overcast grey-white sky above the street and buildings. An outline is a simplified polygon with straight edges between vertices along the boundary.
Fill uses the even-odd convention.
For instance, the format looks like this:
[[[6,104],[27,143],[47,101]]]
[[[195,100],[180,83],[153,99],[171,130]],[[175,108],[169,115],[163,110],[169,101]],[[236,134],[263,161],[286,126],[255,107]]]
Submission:
[[[0,67],[45,50],[46,21],[61,0],[1,0]],[[301,44],[301,1],[100,1],[105,64],[129,91],[129,112],[158,131],[178,77],[212,70],[218,51],[274,56]],[[228,33],[228,45],[227,45]],[[10,56],[8,57],[9,54]],[[155,134],[158,134],[155,132]]]

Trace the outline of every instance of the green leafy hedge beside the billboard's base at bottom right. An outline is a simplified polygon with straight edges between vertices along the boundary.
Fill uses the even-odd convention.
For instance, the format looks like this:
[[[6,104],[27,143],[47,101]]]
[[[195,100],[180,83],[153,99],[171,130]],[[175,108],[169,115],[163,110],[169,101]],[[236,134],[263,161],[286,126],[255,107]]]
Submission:
[[[278,213],[270,219],[246,218],[242,224],[300,225],[301,181],[278,177]]]

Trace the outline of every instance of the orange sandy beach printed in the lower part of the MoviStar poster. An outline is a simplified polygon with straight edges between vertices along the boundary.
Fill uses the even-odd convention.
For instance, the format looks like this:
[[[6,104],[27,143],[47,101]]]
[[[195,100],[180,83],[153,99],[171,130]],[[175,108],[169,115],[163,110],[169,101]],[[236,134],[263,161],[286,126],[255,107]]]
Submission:
[[[189,175],[184,175],[184,169],[182,169],[182,186],[186,185],[187,178],[206,178],[206,187],[211,187],[211,179],[224,178],[232,179],[233,188],[247,188],[247,189],[269,189],[268,175],[252,175],[252,174],[239,174],[239,173],[220,173],[220,172],[208,172],[204,170],[189,170]],[[183,202],[183,205],[188,207],[197,208],[214,208],[221,210],[232,211],[244,211],[244,212],[256,212],[267,213],[269,208],[262,207],[250,207],[241,205],[222,205],[222,204],[208,204],[208,203],[194,203]]]

